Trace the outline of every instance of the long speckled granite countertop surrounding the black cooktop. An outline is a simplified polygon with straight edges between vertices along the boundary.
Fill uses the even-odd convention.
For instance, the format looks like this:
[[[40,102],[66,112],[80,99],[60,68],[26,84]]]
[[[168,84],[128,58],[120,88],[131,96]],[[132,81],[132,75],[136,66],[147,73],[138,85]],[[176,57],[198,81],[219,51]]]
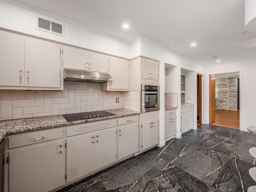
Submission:
[[[5,138],[7,134],[54,128],[59,126],[66,126],[66,125],[72,125],[72,124],[79,124],[79,123],[85,123],[85,122],[92,122],[92,121],[140,114],[140,112],[138,111],[133,111],[128,109],[112,109],[112,110],[106,110],[106,111],[116,115],[108,116],[108,117],[92,118],[92,119],[86,119],[86,120],[78,120],[78,121],[72,121],[72,122],[67,122],[62,115],[2,120],[0,121],[0,142]]]

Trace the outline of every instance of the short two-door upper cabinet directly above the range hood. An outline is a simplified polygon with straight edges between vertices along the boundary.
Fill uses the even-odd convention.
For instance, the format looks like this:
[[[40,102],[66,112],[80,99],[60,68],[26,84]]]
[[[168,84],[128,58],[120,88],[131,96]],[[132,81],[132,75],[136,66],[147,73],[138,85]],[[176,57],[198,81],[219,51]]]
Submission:
[[[109,56],[79,48],[64,46],[63,66],[64,68],[108,73]]]

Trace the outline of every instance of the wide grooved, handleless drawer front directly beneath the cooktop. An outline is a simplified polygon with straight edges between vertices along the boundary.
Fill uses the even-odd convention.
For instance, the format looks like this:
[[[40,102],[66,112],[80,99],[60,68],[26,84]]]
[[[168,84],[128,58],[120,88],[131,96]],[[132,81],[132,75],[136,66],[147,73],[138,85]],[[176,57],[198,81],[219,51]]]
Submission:
[[[77,125],[70,125],[66,129],[66,136],[74,136],[84,133],[89,133],[93,131],[103,130],[107,128],[112,128],[116,126],[116,120],[111,121],[97,121],[97,122],[86,122]]]

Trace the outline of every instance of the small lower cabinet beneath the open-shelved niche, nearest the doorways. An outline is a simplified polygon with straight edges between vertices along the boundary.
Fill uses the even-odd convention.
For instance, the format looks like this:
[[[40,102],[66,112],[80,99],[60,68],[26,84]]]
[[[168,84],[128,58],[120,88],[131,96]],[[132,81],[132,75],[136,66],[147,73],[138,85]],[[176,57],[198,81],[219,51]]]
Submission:
[[[194,105],[181,108],[181,132],[194,127]]]

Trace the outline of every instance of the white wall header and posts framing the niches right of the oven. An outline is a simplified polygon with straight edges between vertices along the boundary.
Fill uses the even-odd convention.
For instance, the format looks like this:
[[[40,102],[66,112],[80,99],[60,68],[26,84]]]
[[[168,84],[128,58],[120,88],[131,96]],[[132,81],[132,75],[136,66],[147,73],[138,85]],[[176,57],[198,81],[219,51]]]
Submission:
[[[169,88],[169,90],[172,90],[173,93],[178,93],[178,108],[177,108],[177,117],[180,116],[180,73],[181,68],[191,70],[194,72],[194,76],[192,77],[194,83],[196,82],[196,71],[204,72],[204,66],[201,64],[198,64],[197,62],[190,60],[189,58],[186,58],[184,56],[181,56],[180,54],[177,54],[173,52],[172,50],[169,50],[155,42],[152,42],[151,40],[148,40],[144,37],[141,37],[141,55],[146,56],[148,58],[154,58],[156,60],[160,61],[160,69],[159,69],[159,78],[160,78],[160,115],[159,115],[159,143],[162,144],[164,142],[164,68],[165,63],[170,64],[174,67],[175,74],[177,78],[175,79],[174,88]],[[168,70],[167,70],[168,72]],[[178,85],[178,86],[177,86]],[[194,84],[194,92],[192,93],[194,96],[190,99],[192,103],[196,106],[196,84]],[[195,112],[196,114],[196,108]],[[196,118],[195,118],[195,127],[196,127]],[[181,136],[180,131],[180,118],[177,118],[177,130],[176,130],[176,137],[179,138]]]

